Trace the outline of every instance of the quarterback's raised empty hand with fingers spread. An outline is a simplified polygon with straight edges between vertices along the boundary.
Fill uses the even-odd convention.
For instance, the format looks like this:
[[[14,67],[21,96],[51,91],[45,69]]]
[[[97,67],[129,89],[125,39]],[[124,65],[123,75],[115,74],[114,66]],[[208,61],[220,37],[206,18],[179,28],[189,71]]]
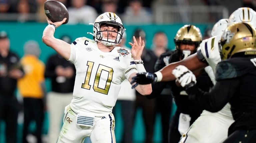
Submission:
[[[131,54],[133,59],[135,60],[141,60],[141,54],[143,51],[143,48],[145,47],[144,40],[141,41],[141,36],[139,37],[139,42],[137,42],[135,36],[133,36],[134,43],[129,42],[129,44],[132,46],[131,48]]]

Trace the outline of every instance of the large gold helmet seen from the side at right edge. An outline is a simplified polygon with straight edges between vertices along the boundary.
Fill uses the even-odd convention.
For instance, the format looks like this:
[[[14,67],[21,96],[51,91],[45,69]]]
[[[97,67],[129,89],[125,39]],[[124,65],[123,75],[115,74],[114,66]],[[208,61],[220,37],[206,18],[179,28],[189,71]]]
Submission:
[[[247,23],[234,23],[227,27],[219,41],[222,60],[234,56],[256,55],[256,30]]]

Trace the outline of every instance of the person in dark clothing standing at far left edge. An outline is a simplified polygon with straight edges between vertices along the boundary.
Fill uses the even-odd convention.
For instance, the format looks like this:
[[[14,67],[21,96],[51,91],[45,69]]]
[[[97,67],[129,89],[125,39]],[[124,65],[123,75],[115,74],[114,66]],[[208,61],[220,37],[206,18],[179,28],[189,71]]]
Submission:
[[[18,101],[15,97],[17,79],[24,75],[19,57],[9,51],[10,40],[0,32],[0,120],[4,120],[6,143],[17,142]]]

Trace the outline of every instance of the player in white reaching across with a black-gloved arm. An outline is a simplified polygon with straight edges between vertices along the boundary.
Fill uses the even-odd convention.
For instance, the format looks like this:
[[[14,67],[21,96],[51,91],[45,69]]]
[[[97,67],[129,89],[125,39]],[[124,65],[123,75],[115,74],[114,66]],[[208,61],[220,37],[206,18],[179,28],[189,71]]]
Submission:
[[[229,17],[229,24],[234,22],[250,23],[256,26],[256,12],[251,8],[239,8]],[[222,33],[221,33],[222,34]],[[171,81],[176,78],[170,72],[178,65],[184,65],[195,72],[198,69],[210,65],[215,73],[216,65],[221,61],[218,42],[221,34],[205,39],[200,44],[197,53],[176,63],[171,63],[163,69],[151,73],[141,73],[133,78],[135,87],[138,84],[149,84],[159,81]],[[211,76],[210,76],[211,77]],[[227,103],[220,111],[212,113],[204,110],[200,117],[190,126],[189,130],[182,135],[181,143],[220,143],[227,138],[228,128],[234,122],[230,111],[230,104]]]

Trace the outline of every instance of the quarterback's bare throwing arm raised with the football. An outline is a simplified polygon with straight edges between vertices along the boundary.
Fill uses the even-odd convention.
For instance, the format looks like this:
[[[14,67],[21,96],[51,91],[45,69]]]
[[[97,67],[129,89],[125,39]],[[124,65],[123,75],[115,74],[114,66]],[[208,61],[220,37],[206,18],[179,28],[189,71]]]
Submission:
[[[70,44],[54,37],[55,29],[59,26],[61,26],[66,21],[66,18],[64,18],[60,22],[51,22],[47,18],[48,26],[44,29],[42,41],[49,47],[53,48],[56,52],[58,52],[62,57],[65,59],[69,59],[70,57]],[[53,24],[53,25],[50,25]],[[55,28],[55,26],[56,28]]]

